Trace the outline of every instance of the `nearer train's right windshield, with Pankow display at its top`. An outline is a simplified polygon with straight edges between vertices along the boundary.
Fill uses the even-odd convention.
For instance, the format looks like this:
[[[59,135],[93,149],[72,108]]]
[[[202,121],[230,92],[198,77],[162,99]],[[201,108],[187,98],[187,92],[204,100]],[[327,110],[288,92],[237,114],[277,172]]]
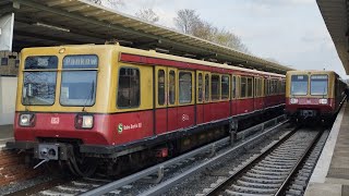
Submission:
[[[97,65],[97,56],[64,57],[60,94],[62,106],[95,105]]]

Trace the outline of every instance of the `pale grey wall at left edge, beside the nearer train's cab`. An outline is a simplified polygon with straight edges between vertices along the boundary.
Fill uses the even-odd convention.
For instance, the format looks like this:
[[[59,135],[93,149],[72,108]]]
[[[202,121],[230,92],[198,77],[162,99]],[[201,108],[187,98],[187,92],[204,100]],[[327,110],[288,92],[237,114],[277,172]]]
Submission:
[[[0,76],[0,125],[13,124],[17,77]]]

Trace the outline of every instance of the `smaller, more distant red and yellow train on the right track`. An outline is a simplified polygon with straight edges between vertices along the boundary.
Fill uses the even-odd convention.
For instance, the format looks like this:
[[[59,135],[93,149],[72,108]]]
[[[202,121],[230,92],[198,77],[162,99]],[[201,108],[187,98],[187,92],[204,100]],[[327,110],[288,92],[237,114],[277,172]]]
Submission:
[[[294,122],[330,121],[345,101],[347,87],[334,71],[288,71],[286,113]]]

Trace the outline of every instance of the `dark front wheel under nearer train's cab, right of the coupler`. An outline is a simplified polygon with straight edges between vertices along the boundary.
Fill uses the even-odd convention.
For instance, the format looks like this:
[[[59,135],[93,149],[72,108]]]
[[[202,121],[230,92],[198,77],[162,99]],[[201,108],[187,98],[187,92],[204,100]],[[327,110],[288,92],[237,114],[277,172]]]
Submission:
[[[67,164],[72,174],[76,176],[91,176],[97,169],[97,161],[88,157],[71,157]]]

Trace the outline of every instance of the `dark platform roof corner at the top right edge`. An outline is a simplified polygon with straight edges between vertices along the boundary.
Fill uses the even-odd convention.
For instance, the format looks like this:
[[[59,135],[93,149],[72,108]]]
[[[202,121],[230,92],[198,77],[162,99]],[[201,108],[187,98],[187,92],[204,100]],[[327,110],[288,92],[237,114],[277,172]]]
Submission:
[[[324,17],[327,29],[336,46],[339,59],[349,74],[349,45],[348,45],[348,1],[347,0],[316,0]]]

